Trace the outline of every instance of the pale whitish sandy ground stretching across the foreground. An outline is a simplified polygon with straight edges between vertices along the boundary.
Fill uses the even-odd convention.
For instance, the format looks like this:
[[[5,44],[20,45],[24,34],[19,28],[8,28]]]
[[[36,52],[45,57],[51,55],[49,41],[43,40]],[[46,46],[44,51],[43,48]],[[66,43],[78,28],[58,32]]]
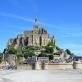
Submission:
[[[82,70],[5,70],[0,82],[82,82]]]

